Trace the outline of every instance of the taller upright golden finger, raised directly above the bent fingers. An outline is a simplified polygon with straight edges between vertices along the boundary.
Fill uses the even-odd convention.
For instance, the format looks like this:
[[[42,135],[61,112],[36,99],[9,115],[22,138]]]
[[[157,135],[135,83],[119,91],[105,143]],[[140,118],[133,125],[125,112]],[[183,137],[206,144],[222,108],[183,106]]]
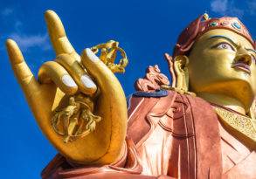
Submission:
[[[76,59],[80,59],[80,56],[75,52],[73,46],[66,37],[64,26],[58,15],[53,10],[46,10],[45,21],[56,56],[61,53],[68,53],[74,54]]]

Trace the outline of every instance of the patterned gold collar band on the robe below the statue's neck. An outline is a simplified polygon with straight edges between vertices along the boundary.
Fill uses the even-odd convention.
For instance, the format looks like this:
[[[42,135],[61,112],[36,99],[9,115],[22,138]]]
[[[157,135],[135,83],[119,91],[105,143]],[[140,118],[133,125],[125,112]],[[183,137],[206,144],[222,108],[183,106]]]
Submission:
[[[246,136],[256,142],[256,129],[250,117],[242,114],[232,113],[221,107],[213,107],[219,116],[219,120],[226,126],[231,128],[236,134]]]

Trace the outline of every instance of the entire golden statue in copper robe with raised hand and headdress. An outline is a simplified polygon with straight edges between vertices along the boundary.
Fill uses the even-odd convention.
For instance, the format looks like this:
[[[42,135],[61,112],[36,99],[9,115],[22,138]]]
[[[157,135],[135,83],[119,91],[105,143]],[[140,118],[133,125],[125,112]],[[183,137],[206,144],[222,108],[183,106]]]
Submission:
[[[149,66],[128,107],[114,76],[128,65],[119,43],[79,55],[57,14],[47,10],[45,20],[56,59],[38,80],[6,42],[35,119],[59,151],[43,178],[256,178],[255,42],[238,18],[204,14],[189,24],[165,54],[171,83]]]

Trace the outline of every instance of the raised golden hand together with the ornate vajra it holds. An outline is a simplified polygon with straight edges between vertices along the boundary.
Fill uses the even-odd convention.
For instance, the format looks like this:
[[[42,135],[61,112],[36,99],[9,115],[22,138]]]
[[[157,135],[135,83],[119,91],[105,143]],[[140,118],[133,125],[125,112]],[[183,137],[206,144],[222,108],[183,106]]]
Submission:
[[[25,63],[16,42],[6,41],[13,71],[38,126],[59,153],[71,162],[114,162],[121,155],[128,120],[121,84],[89,48],[80,55],[74,50],[54,11],[45,12],[45,21],[56,58],[40,67],[38,79]],[[112,60],[107,63],[120,67],[114,67],[114,71],[124,72],[126,54],[118,43],[112,41],[98,49],[102,51],[103,47],[109,50],[104,54]],[[121,52],[124,58],[119,65],[114,65],[116,52]],[[77,99],[78,95],[83,96],[82,100]],[[95,103],[95,107],[86,107],[90,103]],[[99,116],[102,120],[96,127]]]

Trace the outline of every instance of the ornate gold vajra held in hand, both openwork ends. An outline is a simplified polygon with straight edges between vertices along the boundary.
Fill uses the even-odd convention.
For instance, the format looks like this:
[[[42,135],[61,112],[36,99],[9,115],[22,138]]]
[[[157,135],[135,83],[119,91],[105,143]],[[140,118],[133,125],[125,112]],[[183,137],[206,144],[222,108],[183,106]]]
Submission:
[[[128,65],[126,52],[118,46],[119,43],[110,40],[105,44],[93,46],[91,50],[96,54],[100,52],[100,60],[107,65],[112,72],[125,72]],[[122,59],[118,64],[114,64],[118,52]],[[63,136],[63,141],[73,141],[92,133],[96,128],[96,123],[101,117],[93,114],[93,100],[85,94],[79,93],[64,100],[55,110],[52,117],[52,127],[54,131]],[[66,106],[66,107],[65,107]]]

